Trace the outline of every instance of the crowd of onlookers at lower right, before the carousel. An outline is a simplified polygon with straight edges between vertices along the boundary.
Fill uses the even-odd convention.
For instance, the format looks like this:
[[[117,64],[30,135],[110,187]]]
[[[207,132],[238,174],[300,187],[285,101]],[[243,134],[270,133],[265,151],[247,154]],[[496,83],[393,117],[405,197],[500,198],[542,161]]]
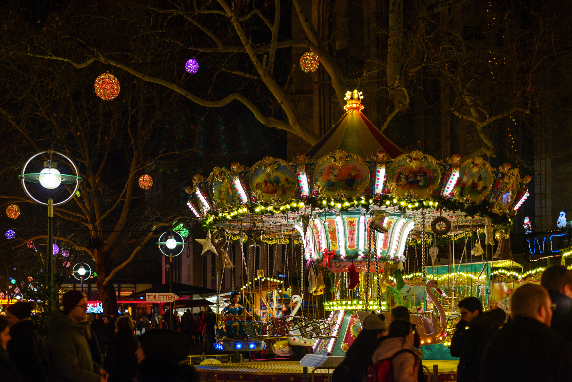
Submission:
[[[450,346],[459,358],[458,382],[572,381],[572,270],[550,266],[540,284],[514,291],[508,317],[500,308],[483,312],[475,297],[459,301]],[[371,313],[333,382],[424,382],[415,333],[405,307],[392,309],[389,327]]]

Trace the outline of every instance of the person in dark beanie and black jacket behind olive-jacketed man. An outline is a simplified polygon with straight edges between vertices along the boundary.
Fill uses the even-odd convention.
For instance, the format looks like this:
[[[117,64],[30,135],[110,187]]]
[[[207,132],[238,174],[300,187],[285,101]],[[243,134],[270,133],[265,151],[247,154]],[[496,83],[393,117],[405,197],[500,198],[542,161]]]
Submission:
[[[46,356],[42,339],[31,319],[32,311],[37,307],[34,301],[29,303],[19,301],[6,307],[6,318],[12,337],[7,351],[23,382],[47,381],[44,369]]]

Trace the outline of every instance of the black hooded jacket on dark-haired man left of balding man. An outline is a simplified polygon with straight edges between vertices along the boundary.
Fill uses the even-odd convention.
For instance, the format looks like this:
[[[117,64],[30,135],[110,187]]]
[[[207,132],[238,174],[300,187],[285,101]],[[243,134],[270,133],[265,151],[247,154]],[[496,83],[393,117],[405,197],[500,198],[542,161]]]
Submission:
[[[457,324],[457,330],[451,338],[451,356],[460,357],[457,368],[458,382],[476,382],[480,380],[482,357],[492,337],[505,323],[506,314],[501,308],[480,313],[465,331],[466,321]]]

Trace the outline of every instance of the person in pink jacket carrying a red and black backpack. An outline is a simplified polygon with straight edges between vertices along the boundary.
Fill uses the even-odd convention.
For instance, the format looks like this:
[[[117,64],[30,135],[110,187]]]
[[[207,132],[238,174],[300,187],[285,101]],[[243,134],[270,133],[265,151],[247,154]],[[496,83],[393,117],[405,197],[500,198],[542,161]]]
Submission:
[[[368,382],[418,382],[420,357],[413,347],[413,328],[405,320],[390,324],[390,333],[374,353]],[[391,379],[393,376],[393,379]]]

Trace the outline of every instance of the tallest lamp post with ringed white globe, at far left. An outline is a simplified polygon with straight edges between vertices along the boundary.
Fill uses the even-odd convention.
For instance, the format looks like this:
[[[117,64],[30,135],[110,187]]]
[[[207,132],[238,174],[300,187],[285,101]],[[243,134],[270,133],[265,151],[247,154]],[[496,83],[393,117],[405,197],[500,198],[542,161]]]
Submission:
[[[43,162],[44,168],[39,173],[26,173],[26,168],[30,164],[30,162],[37,156],[42,154],[49,154],[49,160]],[[67,175],[61,174],[57,169],[57,163],[52,161],[52,157],[54,154],[57,154],[63,158],[65,158],[74,170],[75,175]],[[49,307],[51,309],[51,303],[54,297],[54,206],[62,205],[68,202],[71,198],[73,198],[74,194],[76,194],[77,189],[80,186],[80,182],[82,178],[79,176],[80,173],[74,162],[67,157],[65,154],[59,153],[54,150],[43,150],[39,153],[35,153],[33,156],[28,158],[26,164],[22,167],[22,174],[18,175],[18,178],[22,180],[22,188],[26,193],[27,197],[29,197],[34,203],[36,204],[43,204],[47,206],[47,272],[49,274],[50,280],[50,296],[49,296]],[[30,194],[29,190],[26,187],[26,182],[30,183],[39,183],[42,185],[43,188],[48,190],[53,190],[58,188],[61,184],[76,184],[76,188],[74,188],[73,192],[67,197],[65,200],[61,202],[57,202],[54,204],[54,200],[49,198],[46,202],[39,201],[35,197]]]

